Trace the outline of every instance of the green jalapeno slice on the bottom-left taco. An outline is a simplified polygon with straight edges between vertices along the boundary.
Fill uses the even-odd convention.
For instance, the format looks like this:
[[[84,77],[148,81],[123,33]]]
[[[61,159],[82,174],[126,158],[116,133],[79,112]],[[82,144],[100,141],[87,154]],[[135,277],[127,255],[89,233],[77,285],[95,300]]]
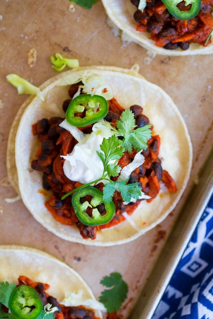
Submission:
[[[30,286],[17,287],[9,300],[11,312],[21,319],[34,319],[42,311],[38,293]]]

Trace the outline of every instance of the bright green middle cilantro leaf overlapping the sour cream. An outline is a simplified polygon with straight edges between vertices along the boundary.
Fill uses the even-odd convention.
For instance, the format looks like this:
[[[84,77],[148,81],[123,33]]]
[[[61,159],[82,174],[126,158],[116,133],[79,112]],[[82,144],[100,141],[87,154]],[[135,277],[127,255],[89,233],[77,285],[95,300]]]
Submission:
[[[105,137],[103,138],[103,142],[100,145],[100,148],[103,151],[103,153],[96,151],[97,155],[103,162],[103,175],[108,171],[112,172],[112,166],[108,166],[111,160],[119,159],[122,155],[124,155],[124,148],[121,145],[122,141],[120,141],[118,137],[115,135],[112,135],[107,139]],[[115,164],[114,167],[116,167]],[[118,168],[116,168],[116,170],[113,169],[113,174],[115,174],[116,171],[118,172]]]

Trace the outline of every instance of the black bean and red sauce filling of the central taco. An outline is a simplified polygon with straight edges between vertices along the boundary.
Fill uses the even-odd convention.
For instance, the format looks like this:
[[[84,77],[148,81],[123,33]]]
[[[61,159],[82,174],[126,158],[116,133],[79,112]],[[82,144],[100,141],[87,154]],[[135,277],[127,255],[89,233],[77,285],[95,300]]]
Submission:
[[[63,110],[66,109],[72,100],[73,95],[78,91],[80,83],[74,84],[69,89],[70,99],[65,100],[63,103]],[[115,125],[120,119],[121,113],[124,111],[116,99],[108,101],[109,112],[105,120]],[[149,124],[149,119],[143,115],[143,109],[139,105],[132,105],[130,110],[133,112],[136,128],[143,127]],[[33,169],[42,171],[43,188],[52,191],[52,195],[45,206],[50,211],[52,216],[62,224],[76,225],[83,238],[96,238],[96,231],[102,228],[114,226],[124,220],[122,213],[126,211],[129,215],[133,213],[136,207],[140,204],[141,200],[136,203],[124,204],[123,199],[118,191],[113,196],[113,202],[116,206],[116,214],[114,218],[107,224],[101,226],[86,226],[82,224],[72,207],[72,197],[68,196],[63,201],[61,197],[73,189],[81,186],[80,182],[69,180],[63,170],[64,159],[61,155],[67,155],[72,152],[72,149],[77,140],[71,135],[70,132],[61,128],[59,124],[64,120],[60,117],[52,117],[48,119],[41,119],[33,124],[33,134],[37,135],[38,140],[41,142],[41,148],[37,151],[35,159],[32,161],[31,166]],[[79,128],[84,133],[91,133],[92,125]],[[152,129],[152,127],[151,127]],[[152,136],[148,141],[148,148],[142,151],[145,158],[144,163],[136,168],[130,175],[128,183],[139,182],[143,192],[150,196],[148,202],[155,198],[160,190],[160,182],[162,181],[168,191],[175,192],[176,185],[169,175],[169,173],[162,169],[161,160],[158,157],[160,149],[160,137],[158,135]],[[118,165],[123,168],[131,163],[137,151],[133,150],[131,153],[125,152],[124,155],[118,160]],[[116,180],[118,177],[112,177]],[[95,187],[103,191],[103,183],[97,184]],[[100,214],[105,214],[104,204],[97,206]]]

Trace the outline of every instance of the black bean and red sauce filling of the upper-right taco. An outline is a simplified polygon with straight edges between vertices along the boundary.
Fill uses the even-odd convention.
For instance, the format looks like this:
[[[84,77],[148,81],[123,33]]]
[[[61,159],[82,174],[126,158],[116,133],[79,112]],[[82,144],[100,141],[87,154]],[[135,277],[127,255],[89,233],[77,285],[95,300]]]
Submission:
[[[140,0],[130,0],[137,8]],[[136,30],[151,33],[151,39],[156,41],[157,47],[174,50],[187,50],[190,43],[199,43],[202,46],[211,43],[209,38],[213,26],[213,0],[201,0],[201,9],[196,17],[190,20],[179,20],[173,17],[161,0],[147,0],[145,9],[136,10],[134,19],[138,23]],[[185,1],[178,4],[180,11],[190,9]]]

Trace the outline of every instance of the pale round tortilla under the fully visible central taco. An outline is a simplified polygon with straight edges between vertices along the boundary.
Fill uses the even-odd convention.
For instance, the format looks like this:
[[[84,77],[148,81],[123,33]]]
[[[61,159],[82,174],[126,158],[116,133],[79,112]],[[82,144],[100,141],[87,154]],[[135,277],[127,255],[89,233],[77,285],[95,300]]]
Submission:
[[[16,135],[15,159],[19,191],[24,204],[34,218],[57,236],[87,245],[123,244],[155,227],[176,206],[189,178],[192,164],[192,145],[186,124],[178,108],[157,85],[136,76],[137,74],[129,74],[125,70],[121,72],[121,70],[112,67],[87,68],[89,74],[102,75],[106,84],[112,88],[114,97],[124,108],[138,104],[144,109],[143,114],[148,116],[154,125],[154,134],[159,134],[161,138],[159,158],[162,159],[162,167],[170,173],[178,190],[175,193],[170,193],[163,186],[151,203],[141,201],[131,215],[130,222],[125,220],[116,226],[98,231],[95,240],[82,238],[76,226],[66,226],[57,222],[44,205],[47,197],[38,192],[42,189],[42,172],[34,171],[31,168],[31,161],[35,158],[40,147],[37,137],[32,134],[32,124],[43,117],[64,117],[62,104],[64,100],[69,98],[68,88],[70,85],[57,85],[61,80],[65,81],[76,73],[84,72],[85,68],[71,70],[50,79],[43,86],[44,102],[38,97],[34,97],[25,111],[22,108],[25,108],[26,105],[21,107],[22,111],[19,111],[17,115],[19,120],[15,120],[15,123],[19,122],[18,130],[17,124],[14,124],[11,132],[11,136]],[[21,118],[20,113],[22,113]],[[15,134],[16,130],[17,134]],[[14,147],[9,139],[8,154],[10,156],[8,156],[7,161],[14,161],[13,152]],[[8,167],[11,166],[12,164],[8,164]],[[12,178],[15,179],[15,175]]]

